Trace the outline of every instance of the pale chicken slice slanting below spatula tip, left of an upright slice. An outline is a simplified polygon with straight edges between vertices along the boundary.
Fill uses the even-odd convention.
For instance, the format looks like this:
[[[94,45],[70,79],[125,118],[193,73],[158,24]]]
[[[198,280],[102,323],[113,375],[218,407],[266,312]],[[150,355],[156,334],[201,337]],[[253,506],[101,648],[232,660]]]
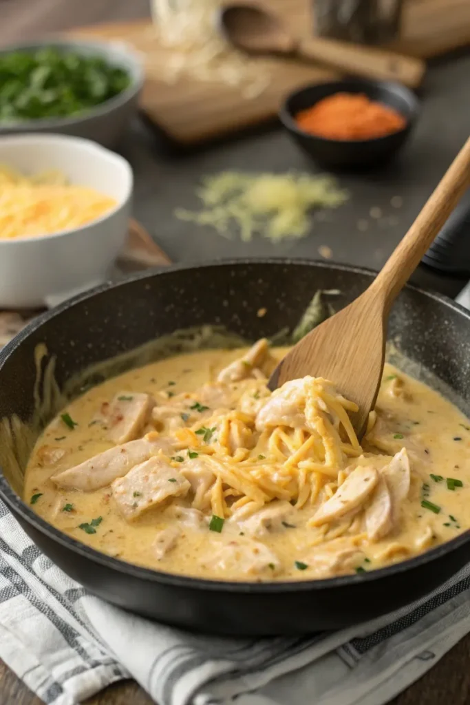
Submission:
[[[335,521],[359,507],[372,493],[378,481],[374,467],[357,467],[335,491],[333,497],[321,505],[311,519],[312,526]]]

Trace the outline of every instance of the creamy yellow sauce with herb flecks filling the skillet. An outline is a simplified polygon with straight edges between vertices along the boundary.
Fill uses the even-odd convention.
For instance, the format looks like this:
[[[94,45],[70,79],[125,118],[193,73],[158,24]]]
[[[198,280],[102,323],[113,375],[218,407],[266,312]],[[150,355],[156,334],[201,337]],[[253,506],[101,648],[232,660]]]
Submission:
[[[286,493],[291,492],[292,498],[287,513],[280,511],[279,517],[274,517],[272,521],[257,520],[259,507],[244,515],[245,500],[242,494],[236,494],[230,489],[230,484],[222,480],[217,481],[221,485],[220,491],[225,493],[222,526],[217,521],[214,525],[212,518],[217,491],[214,484],[207,490],[206,496],[199,496],[199,508],[194,509],[195,490],[193,486],[187,489],[185,478],[190,479],[190,475],[183,470],[190,467],[186,446],[197,448],[199,459],[222,457],[217,443],[221,442],[223,425],[216,425],[216,422],[213,422],[214,427],[209,426],[209,431],[216,429],[209,436],[193,434],[194,443],[199,445],[180,441],[180,446],[171,453],[162,453],[161,450],[156,453],[158,458],[166,459],[165,467],[171,468],[170,474],[175,474],[175,477],[168,479],[175,494],[158,499],[155,505],[142,513],[140,498],[145,495],[147,486],[143,491],[132,493],[132,487],[137,487],[137,484],[130,484],[130,473],[116,479],[114,484],[106,484],[92,491],[74,489],[73,486],[56,484],[51,480],[51,476],[59,477],[63,471],[115,448],[116,443],[132,440],[132,436],[125,438],[123,419],[110,417],[109,405],[113,398],[120,400],[116,402],[119,408],[131,403],[134,396],[137,398],[140,393],[156,399],[152,416],[146,420],[137,438],[150,432],[152,439],[175,439],[178,434],[186,433],[185,427],[207,429],[204,422],[208,415],[212,418],[214,408],[199,411],[199,408],[204,409],[205,404],[197,400],[194,392],[208,382],[213,383],[222,369],[245,353],[246,350],[204,350],[179,355],[134,369],[87,391],[61,412],[62,415],[58,415],[39,437],[27,465],[25,501],[62,532],[110,556],[157,570],[218,580],[308,580],[371,570],[426,551],[469,528],[470,516],[466,508],[470,501],[470,422],[438,393],[388,364],[385,365],[378,397],[377,419],[374,416],[371,418],[362,449],[353,453],[348,446],[347,453],[352,455],[347,457],[343,454],[342,467],[336,468],[334,473],[331,470],[328,470],[329,474],[316,472],[311,470],[314,467],[311,464],[310,469],[301,469],[299,474],[298,464],[294,464],[295,467],[291,468],[295,473],[292,479],[276,474],[276,478],[281,477],[278,486],[286,488]],[[280,359],[284,354],[283,348],[271,351],[275,359]],[[252,368],[246,365],[249,379],[231,383],[232,386],[240,384],[245,391],[251,390],[258,407],[264,403],[265,396],[266,400],[268,398],[264,389],[266,378],[261,376],[261,372],[268,374],[266,364],[272,367],[273,360],[259,365],[258,376],[253,376],[256,364]],[[180,395],[184,393],[187,393],[185,408],[191,410],[182,413],[177,405],[175,416],[171,418],[178,417],[180,425],[172,429],[171,421],[168,421],[169,417],[163,414],[163,410],[180,403]],[[236,396],[238,392],[233,393]],[[194,408],[194,404],[199,404],[199,408]],[[261,412],[258,410],[257,413],[259,415]],[[200,422],[197,414],[201,415]],[[222,410],[221,417],[223,414]],[[183,418],[181,424],[180,417],[186,415],[191,417]],[[244,436],[245,427],[240,426],[242,422],[237,427],[239,435],[242,434],[237,442],[238,448],[242,449],[240,458],[245,453],[243,462],[252,460],[256,467],[250,472],[261,477],[261,470],[258,472],[257,468],[264,466],[264,460],[271,460],[267,431],[256,431],[254,422],[249,419],[245,421],[251,430]],[[286,434],[285,429],[289,430],[288,424],[285,427],[280,424],[280,430]],[[114,434],[113,440],[109,438],[110,430]],[[120,434],[124,434],[122,439]],[[265,436],[266,444],[263,446]],[[292,435],[288,436],[287,441],[298,438],[302,444],[308,439],[307,431],[292,428]],[[283,441],[279,442],[285,457],[278,458],[277,465],[273,464],[273,477],[295,452],[295,448],[289,451],[287,446],[282,445]],[[343,445],[346,447],[345,443]],[[262,453],[259,452],[260,448]],[[371,503],[377,496],[378,485],[363,501],[359,501],[359,495],[354,497],[348,513],[335,514],[335,508],[330,504],[330,513],[333,507],[330,520],[323,522],[318,518],[319,509],[325,509],[328,500],[335,496],[354,470],[358,467],[369,469],[373,482],[380,483],[381,473],[386,474],[383,469],[389,467],[393,456],[396,458],[402,448],[406,449],[405,454],[409,458],[411,479],[400,502],[391,508],[388,529],[378,525],[373,527]],[[191,452],[195,453],[196,450],[189,450]],[[232,458],[237,458],[237,453],[239,451],[232,448]],[[302,457],[307,458],[305,462],[308,464],[308,455]],[[228,467],[236,474],[232,462],[230,460]],[[157,474],[161,472],[161,466],[159,468]],[[314,491],[317,476],[320,479]],[[93,470],[90,477],[93,481]],[[304,490],[301,485],[305,477],[311,484],[306,501],[302,501]],[[177,478],[180,478],[178,482]],[[292,490],[294,483],[298,483],[298,487],[296,484]],[[310,487],[313,489],[310,490]],[[168,489],[168,485],[163,489]],[[393,496],[390,482],[388,489]],[[176,494],[177,490],[180,494]],[[351,491],[354,492],[354,488]],[[125,497],[129,496],[129,492],[135,496],[135,502],[128,501],[126,504]],[[121,501],[120,497],[123,498]],[[241,506],[234,511],[233,503],[237,501],[241,502]],[[280,503],[283,503],[285,510],[285,499],[270,496],[264,509],[280,506]],[[297,503],[297,508],[292,503]],[[173,514],[172,507],[175,510]],[[179,514],[181,508],[189,513],[182,517]],[[315,521],[314,517],[318,520]],[[273,560],[269,558],[271,555]]]

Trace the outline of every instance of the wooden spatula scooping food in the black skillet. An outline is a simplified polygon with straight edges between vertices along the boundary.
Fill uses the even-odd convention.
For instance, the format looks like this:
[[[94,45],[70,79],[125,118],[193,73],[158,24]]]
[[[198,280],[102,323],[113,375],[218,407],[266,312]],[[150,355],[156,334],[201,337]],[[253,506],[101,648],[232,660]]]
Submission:
[[[330,379],[359,406],[352,423],[361,436],[381,384],[392,303],[469,185],[470,137],[371,286],[287,353],[271,390],[307,374]]]

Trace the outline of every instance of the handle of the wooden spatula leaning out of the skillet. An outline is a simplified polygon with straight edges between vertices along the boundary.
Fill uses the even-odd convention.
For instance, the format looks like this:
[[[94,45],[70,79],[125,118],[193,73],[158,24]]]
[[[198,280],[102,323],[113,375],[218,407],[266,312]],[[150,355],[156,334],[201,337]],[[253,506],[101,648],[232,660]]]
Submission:
[[[390,309],[469,185],[470,137],[371,284],[374,295],[385,297],[385,310]]]

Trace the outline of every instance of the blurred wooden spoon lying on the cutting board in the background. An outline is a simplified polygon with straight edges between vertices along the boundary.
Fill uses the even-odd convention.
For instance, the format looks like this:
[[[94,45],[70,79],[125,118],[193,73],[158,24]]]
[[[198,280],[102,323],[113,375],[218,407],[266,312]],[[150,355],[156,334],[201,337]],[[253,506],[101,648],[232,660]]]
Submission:
[[[250,54],[284,54],[319,61],[342,73],[363,78],[395,80],[412,88],[423,78],[426,64],[411,56],[333,39],[297,39],[283,21],[256,4],[232,3],[221,7],[218,16],[225,37]]]

